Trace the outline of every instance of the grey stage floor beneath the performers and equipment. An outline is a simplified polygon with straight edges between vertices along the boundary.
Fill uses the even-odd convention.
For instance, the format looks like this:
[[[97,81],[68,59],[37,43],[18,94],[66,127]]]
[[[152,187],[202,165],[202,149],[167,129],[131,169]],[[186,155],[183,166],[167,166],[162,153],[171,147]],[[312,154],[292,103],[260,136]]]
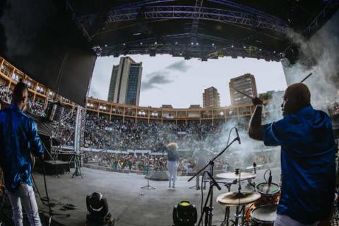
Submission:
[[[182,200],[191,201],[198,209],[200,217],[201,191],[189,189],[196,184],[195,179],[187,182],[189,177],[179,177],[176,188],[168,188],[168,182],[150,181],[150,186],[155,190],[141,189],[147,185],[147,180],[143,175],[124,174],[116,172],[106,172],[97,169],[82,168],[83,179],[81,177],[71,178],[72,174],[63,174],[60,177],[47,176],[47,187],[52,203],[57,203],[53,208],[56,213],[69,213],[69,218],[55,216],[54,220],[62,225],[83,226],[86,221],[85,197],[94,191],[99,191],[107,197],[109,212],[115,218],[115,225],[118,226],[162,226],[172,225],[172,208]],[[257,172],[256,183],[263,182],[263,172]],[[273,182],[280,178],[278,169],[273,169]],[[35,173],[37,188],[42,196],[44,193],[44,182],[42,174]],[[243,188],[247,188],[246,182],[242,183]],[[237,186],[233,185],[232,190]],[[227,192],[225,186],[222,190],[214,189],[215,197],[218,194]],[[206,198],[208,189],[204,192]],[[37,195],[37,194],[36,194]],[[39,208],[47,210],[46,206],[37,196]],[[71,203],[77,206],[76,210],[59,210],[64,204]],[[215,215],[213,223],[220,225],[224,218],[225,209],[215,203]]]

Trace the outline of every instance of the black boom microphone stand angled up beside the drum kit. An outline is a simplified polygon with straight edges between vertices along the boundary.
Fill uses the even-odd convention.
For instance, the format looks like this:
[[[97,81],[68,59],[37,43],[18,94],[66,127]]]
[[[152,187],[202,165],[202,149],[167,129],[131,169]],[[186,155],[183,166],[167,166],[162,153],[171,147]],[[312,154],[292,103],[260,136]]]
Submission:
[[[200,169],[196,174],[194,174],[194,176],[192,176],[188,182],[190,182],[192,179],[194,179],[194,177],[198,177],[198,175],[200,175],[201,172],[203,172],[203,170],[205,170],[208,166],[210,166],[210,173],[208,172],[208,176],[210,177],[211,181],[210,181],[210,188],[208,189],[208,195],[205,201],[205,204],[203,206],[203,213],[200,216],[200,220],[198,222],[198,226],[201,225],[201,222],[203,220],[203,215],[206,214],[205,217],[205,225],[206,226],[212,226],[212,217],[213,217],[213,186],[217,186],[217,188],[219,190],[221,190],[218,182],[215,181],[215,179],[213,178],[213,169],[214,169],[214,163],[215,160],[220,157],[220,155],[222,155],[223,153],[225,153],[225,150],[227,150],[227,148],[230,148],[230,146],[232,145],[232,143],[234,143],[235,141],[239,141],[239,136],[237,136],[236,138],[233,139],[233,141],[228,144],[226,146],[226,148],[224,148],[224,150],[222,150],[218,155],[216,155],[215,157],[213,157],[213,159],[210,160],[210,162],[208,162],[208,164],[203,167],[202,169]],[[207,206],[208,201],[210,201],[210,206]]]

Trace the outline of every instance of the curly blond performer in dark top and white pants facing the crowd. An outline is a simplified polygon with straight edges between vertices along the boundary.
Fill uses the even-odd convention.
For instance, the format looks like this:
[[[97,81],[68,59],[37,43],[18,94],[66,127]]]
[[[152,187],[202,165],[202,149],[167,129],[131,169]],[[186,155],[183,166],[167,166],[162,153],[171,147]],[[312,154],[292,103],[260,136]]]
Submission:
[[[175,181],[177,179],[177,160],[179,159],[179,154],[177,153],[178,144],[177,143],[169,143],[166,145],[167,151],[167,169],[169,172],[169,185],[171,187],[171,182],[173,181],[172,188],[175,188]]]

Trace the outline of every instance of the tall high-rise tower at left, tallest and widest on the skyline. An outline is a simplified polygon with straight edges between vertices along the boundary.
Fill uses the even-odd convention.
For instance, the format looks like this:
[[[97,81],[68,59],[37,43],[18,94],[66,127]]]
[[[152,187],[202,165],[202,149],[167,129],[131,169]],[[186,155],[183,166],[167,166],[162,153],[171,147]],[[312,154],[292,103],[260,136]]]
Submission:
[[[121,57],[112,69],[108,101],[125,105],[139,105],[142,63],[131,57]]]

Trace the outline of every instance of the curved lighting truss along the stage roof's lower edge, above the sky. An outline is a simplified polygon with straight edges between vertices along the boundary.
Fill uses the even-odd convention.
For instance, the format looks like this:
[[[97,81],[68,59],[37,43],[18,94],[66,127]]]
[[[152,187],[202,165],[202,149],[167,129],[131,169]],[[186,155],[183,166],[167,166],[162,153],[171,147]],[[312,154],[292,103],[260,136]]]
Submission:
[[[211,35],[197,34],[199,42],[189,42],[191,33],[167,35],[162,41],[148,38],[133,42],[116,44],[113,46],[101,47],[101,56],[119,57],[126,54],[149,54],[154,57],[156,54],[171,54],[173,57],[218,59],[218,57],[251,57],[265,59],[266,61],[280,61],[281,55],[275,52],[268,52],[253,46],[230,44],[230,40]],[[207,42],[210,44],[206,44]]]

